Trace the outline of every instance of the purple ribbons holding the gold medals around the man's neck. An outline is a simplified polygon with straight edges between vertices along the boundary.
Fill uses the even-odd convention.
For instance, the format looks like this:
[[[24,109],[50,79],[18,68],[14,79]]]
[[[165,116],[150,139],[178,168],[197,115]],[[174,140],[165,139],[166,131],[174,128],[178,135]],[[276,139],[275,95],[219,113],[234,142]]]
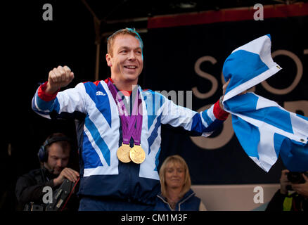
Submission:
[[[137,93],[132,91],[132,97],[134,98],[133,101],[133,109],[131,115],[130,112],[127,112],[127,108],[123,103],[122,96],[118,94],[115,85],[108,79],[108,88],[113,95],[113,99],[117,104],[117,109],[119,111],[120,120],[122,124],[122,137],[123,143],[129,144],[131,137],[134,139],[134,144],[140,145],[141,141],[141,129],[142,129],[142,115],[138,112],[139,105],[141,105],[142,101],[138,98],[139,90],[137,89]],[[136,127],[135,127],[136,124]]]

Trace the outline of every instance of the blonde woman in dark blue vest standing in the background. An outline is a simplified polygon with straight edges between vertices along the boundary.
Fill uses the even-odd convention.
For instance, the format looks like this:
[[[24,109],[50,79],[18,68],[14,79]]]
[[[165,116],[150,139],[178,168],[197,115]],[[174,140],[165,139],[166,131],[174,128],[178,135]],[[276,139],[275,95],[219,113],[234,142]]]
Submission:
[[[161,193],[155,210],[158,211],[206,211],[200,198],[191,190],[188,166],[179,155],[165,159],[160,167]]]

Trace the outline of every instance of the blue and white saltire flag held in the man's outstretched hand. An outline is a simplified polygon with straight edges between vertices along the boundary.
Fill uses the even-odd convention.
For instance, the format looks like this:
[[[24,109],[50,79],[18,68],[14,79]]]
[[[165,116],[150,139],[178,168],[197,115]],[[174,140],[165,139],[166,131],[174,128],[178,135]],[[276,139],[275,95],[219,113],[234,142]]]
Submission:
[[[271,37],[264,35],[232,51],[224,62],[229,85],[224,108],[245,153],[266,172],[281,155],[291,171],[308,170],[308,118],[288,112],[274,101],[243,91],[281,70],[271,58]]]

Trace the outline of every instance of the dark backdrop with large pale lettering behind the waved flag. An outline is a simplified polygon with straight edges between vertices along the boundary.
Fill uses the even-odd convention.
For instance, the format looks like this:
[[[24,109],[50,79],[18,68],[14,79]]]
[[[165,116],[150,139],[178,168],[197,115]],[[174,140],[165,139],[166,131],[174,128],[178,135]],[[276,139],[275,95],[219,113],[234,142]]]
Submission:
[[[222,66],[231,51],[271,34],[274,61],[283,70],[253,91],[308,116],[308,5],[264,8],[264,20],[254,20],[254,13],[245,8],[149,20],[143,89],[169,96],[176,91],[177,103],[184,93],[184,106],[191,98],[193,110],[204,110],[222,95]],[[165,125],[160,162],[173,154],[185,158],[193,184],[278,183],[284,167],[279,158],[267,173],[250,160],[233,133],[231,116],[210,138]]]

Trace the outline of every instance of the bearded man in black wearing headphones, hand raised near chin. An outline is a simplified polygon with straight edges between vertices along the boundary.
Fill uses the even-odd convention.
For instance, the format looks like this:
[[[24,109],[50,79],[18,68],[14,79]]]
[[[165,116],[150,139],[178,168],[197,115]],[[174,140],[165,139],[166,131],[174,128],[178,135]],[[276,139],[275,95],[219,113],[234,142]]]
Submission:
[[[20,176],[16,183],[15,195],[21,207],[29,210],[30,205],[35,205],[43,210],[44,187],[54,191],[65,179],[77,182],[79,173],[67,167],[70,148],[70,139],[64,134],[51,134],[46,139],[38,153],[41,168]]]

